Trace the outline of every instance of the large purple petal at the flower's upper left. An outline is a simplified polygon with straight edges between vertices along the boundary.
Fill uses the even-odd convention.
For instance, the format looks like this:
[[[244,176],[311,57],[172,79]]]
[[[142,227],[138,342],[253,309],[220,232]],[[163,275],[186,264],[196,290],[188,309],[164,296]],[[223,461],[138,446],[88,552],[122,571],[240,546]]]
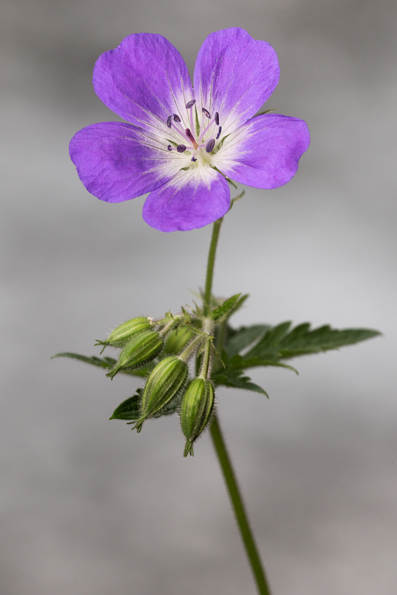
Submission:
[[[194,97],[179,51],[155,33],[129,35],[117,48],[99,56],[92,82],[108,108],[161,136],[169,133],[170,114],[187,118],[185,105]]]

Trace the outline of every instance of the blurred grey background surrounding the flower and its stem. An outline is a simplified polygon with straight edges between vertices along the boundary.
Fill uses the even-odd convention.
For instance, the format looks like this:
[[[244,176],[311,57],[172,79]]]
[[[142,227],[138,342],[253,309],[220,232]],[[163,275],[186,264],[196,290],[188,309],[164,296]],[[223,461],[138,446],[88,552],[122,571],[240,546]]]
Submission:
[[[287,186],[247,189],[221,233],[215,292],[234,324],[283,320],[384,336],[220,390],[220,421],[274,595],[397,592],[396,13],[392,0],[3,0],[2,595],[254,595],[205,436],[177,418],[108,421],[139,382],[68,360],[135,315],[191,303],[210,228],[165,234],[143,198],[109,205],[68,158],[117,120],[93,64],[130,33],[165,35],[190,72],[208,33],[274,46],[268,108],[312,136]],[[394,166],[394,167],[393,167]]]

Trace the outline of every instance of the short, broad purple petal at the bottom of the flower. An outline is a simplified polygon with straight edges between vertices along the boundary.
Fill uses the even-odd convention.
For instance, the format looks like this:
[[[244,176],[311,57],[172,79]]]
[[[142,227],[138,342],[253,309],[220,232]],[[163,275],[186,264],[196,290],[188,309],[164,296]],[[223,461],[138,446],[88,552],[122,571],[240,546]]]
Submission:
[[[160,231],[187,231],[223,217],[230,206],[226,180],[210,167],[180,171],[149,194],[143,219]]]

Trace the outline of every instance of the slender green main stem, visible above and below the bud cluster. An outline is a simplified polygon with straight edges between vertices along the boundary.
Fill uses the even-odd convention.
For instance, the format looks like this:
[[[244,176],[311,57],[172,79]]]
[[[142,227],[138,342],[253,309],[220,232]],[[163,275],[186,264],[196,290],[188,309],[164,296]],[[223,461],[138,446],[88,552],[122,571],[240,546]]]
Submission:
[[[204,314],[208,315],[211,311],[211,292],[212,292],[212,278],[214,277],[215,255],[217,251],[217,244],[219,232],[223,218],[214,221],[212,228],[212,237],[210,243],[210,251],[208,252],[207,261],[207,276],[205,278],[205,293],[204,293]],[[226,324],[223,328],[218,328],[217,347],[221,351],[223,347],[224,336],[226,335]],[[258,593],[260,595],[270,595],[270,588],[267,584],[264,568],[258,553],[257,544],[255,543],[254,534],[249,526],[248,516],[246,515],[243,500],[240,494],[239,486],[237,484],[235,472],[233,471],[232,463],[230,462],[229,453],[226,449],[221,428],[217,417],[212,421],[211,437],[214,443],[215,451],[218,455],[223,477],[229,491],[230,502],[235,511],[237,525],[239,526],[240,534],[245,547],[246,555],[251,564],[252,573],[254,574],[255,582],[257,583]]]

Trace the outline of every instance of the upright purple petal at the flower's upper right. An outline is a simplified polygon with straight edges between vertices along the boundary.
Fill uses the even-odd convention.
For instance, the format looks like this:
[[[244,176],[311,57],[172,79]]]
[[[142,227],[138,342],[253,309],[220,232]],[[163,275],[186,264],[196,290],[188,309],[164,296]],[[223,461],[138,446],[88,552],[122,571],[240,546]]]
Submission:
[[[222,133],[229,134],[251,118],[279,82],[279,61],[265,41],[233,27],[208,35],[195,65],[198,111],[218,112]]]

